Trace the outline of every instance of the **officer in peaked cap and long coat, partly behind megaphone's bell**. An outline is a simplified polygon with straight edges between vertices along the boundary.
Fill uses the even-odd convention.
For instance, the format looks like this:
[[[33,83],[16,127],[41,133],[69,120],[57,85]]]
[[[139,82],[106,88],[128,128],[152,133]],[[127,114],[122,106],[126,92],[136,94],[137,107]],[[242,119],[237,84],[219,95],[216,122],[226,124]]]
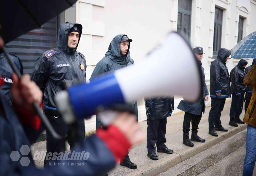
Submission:
[[[203,98],[196,103],[190,103],[186,100],[181,100],[178,106],[178,109],[185,111],[184,120],[183,120],[183,144],[189,147],[194,146],[194,144],[191,141],[205,142],[205,139],[202,139],[197,135],[197,129],[198,129],[198,124],[202,118],[202,112],[204,113],[204,110],[205,110],[205,101],[209,100],[209,93],[208,93],[207,86],[205,84],[204,68],[201,62],[204,54],[203,48],[201,47],[193,48],[193,52],[195,53],[196,59],[198,60],[198,63],[201,66]],[[189,129],[190,121],[192,123],[191,140],[189,140],[189,133],[188,133],[190,130]]]

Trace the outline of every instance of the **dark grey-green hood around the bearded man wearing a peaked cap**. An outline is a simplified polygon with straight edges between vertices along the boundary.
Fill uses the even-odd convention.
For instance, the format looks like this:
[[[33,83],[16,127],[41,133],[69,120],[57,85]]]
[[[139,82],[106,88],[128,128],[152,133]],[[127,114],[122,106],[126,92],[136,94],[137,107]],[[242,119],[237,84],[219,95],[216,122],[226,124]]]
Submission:
[[[130,42],[129,42],[129,46],[128,46],[128,51],[126,52],[126,55],[123,59],[121,56],[121,53],[120,53],[120,42],[121,42],[121,38],[123,36],[127,36],[127,35],[120,34],[113,38],[113,40],[111,41],[111,43],[108,46],[108,51],[106,52],[105,56],[108,57],[109,59],[113,60],[117,64],[127,65],[129,63],[129,60],[131,59],[131,57],[130,57]]]

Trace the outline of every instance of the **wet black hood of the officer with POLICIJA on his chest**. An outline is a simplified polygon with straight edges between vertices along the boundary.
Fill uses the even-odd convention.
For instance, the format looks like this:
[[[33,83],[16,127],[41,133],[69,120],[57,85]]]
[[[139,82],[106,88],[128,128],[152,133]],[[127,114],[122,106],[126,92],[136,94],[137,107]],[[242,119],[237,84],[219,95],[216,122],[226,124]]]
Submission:
[[[63,52],[76,52],[76,48],[79,44],[79,41],[80,41],[80,37],[81,37],[81,34],[79,35],[79,39],[78,39],[78,43],[76,45],[76,48],[69,48],[68,47],[68,33],[69,33],[69,30],[74,26],[76,25],[77,28],[79,28],[81,34],[82,34],[82,25],[81,24],[77,24],[77,23],[64,23],[60,26],[60,29],[59,29],[59,33],[58,33],[58,44],[57,44],[57,47],[63,51]]]

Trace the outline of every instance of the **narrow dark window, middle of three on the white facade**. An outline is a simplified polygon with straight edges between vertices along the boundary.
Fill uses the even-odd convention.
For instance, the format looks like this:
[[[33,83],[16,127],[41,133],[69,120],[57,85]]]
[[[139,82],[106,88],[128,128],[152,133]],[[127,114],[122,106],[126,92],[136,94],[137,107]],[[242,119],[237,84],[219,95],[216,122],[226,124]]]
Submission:
[[[213,32],[213,58],[217,58],[221,45],[221,29],[222,29],[223,10],[215,8],[214,32]]]

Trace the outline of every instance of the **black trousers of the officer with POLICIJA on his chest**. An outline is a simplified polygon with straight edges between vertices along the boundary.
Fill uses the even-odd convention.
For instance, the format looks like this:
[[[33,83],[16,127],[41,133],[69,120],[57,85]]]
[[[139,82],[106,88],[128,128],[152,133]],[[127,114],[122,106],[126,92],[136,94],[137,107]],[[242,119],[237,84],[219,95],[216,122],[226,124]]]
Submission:
[[[46,114],[53,129],[61,136],[63,139],[56,140],[51,134],[46,130],[46,150],[48,152],[63,152],[66,150],[65,141],[67,135],[67,141],[70,148],[74,146],[75,143],[82,142],[85,138],[85,126],[84,119],[79,120],[76,124],[68,126],[58,114]],[[57,117],[57,118],[56,118]],[[46,155],[47,156],[47,155]],[[50,160],[49,160],[50,161]],[[44,159],[44,166],[49,162]],[[52,164],[53,165],[53,164]]]

